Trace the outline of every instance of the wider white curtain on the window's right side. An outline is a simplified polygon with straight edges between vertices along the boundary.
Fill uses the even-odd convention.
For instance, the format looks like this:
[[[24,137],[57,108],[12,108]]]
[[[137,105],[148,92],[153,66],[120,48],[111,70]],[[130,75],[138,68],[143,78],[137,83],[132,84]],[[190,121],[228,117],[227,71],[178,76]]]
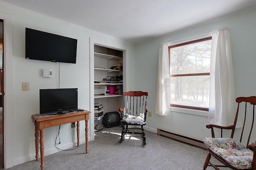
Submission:
[[[232,125],[236,102],[230,36],[227,28],[212,31],[210,81],[208,123]]]

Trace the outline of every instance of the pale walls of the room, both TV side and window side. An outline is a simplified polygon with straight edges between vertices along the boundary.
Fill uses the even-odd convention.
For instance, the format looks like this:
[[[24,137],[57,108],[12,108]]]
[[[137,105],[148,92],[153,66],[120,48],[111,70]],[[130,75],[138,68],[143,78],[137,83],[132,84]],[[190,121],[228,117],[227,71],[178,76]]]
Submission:
[[[0,2],[0,12],[12,16],[13,62],[10,65],[13,72],[13,121],[7,123],[13,125],[13,132],[8,132],[8,129],[5,130],[8,134],[13,134],[11,136],[13,138],[13,156],[7,158],[13,161],[13,165],[34,159],[34,125],[31,115],[39,112],[39,89],[58,87],[58,63],[25,59],[26,27],[78,39],[77,63],[60,63],[60,88],[77,87],[79,91],[78,106],[87,110],[90,109],[89,38],[125,46],[128,49],[128,63],[126,64],[128,67],[127,82],[129,83],[127,90],[149,92],[148,109],[153,114],[152,117],[148,117],[147,126],[152,131],[155,131],[156,128],[164,128],[198,139],[210,136],[210,130],[205,127],[207,123],[206,116],[177,112],[172,112],[171,115],[165,117],[154,114],[158,52],[161,42],[202,34],[224,26],[228,27],[234,63],[235,96],[256,95],[255,9],[160,36],[154,40],[136,45],[135,50],[134,45],[122,40],[17,8],[4,2]],[[134,58],[134,56],[136,57]],[[53,77],[42,77],[42,69],[52,69]],[[21,90],[23,81],[30,82],[30,91]],[[8,110],[8,108],[6,109]],[[6,114],[8,115],[8,113]],[[84,123],[81,123],[81,127],[83,126]],[[74,144],[75,130],[70,127],[69,124],[62,126],[60,147],[68,147],[70,144]],[[93,128],[90,127],[91,132]],[[45,130],[45,155],[56,151],[54,148],[56,132],[57,127],[46,128]],[[93,134],[89,135],[90,140],[92,140],[94,138]],[[83,128],[80,129],[80,138],[81,141],[84,141]]]

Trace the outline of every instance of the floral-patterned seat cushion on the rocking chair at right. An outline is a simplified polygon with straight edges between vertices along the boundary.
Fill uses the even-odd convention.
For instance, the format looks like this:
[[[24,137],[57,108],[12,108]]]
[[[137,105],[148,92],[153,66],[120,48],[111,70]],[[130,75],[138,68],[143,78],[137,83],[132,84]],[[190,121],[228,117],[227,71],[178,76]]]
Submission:
[[[253,152],[232,138],[204,138],[204,144],[237,169],[252,168]]]

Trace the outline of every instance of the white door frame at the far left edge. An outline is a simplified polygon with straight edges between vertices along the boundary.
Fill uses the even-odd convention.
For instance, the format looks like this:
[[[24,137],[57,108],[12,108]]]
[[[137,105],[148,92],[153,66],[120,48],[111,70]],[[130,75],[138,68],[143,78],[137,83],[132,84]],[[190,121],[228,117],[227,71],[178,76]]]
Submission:
[[[12,16],[0,12],[4,20],[4,168],[13,166],[13,101],[12,101]]]

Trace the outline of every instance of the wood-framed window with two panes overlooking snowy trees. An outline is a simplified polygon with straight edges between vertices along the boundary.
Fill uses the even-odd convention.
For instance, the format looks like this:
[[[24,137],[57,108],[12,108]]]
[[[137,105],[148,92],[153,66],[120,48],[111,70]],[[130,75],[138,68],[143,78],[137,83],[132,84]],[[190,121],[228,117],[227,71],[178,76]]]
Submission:
[[[208,111],[212,37],[170,45],[170,106]]]

